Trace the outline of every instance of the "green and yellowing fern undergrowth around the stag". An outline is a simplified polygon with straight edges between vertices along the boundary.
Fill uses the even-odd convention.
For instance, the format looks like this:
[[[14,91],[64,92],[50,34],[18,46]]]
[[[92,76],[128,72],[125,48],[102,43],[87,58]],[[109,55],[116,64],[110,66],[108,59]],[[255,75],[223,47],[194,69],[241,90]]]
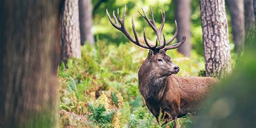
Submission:
[[[60,125],[78,127],[161,127],[138,90],[138,69],[147,50],[132,43],[82,46],[82,59],[59,66]],[[179,76],[200,76],[204,59],[192,52],[190,59],[176,50],[167,52],[181,68]],[[179,118],[189,127],[194,116]],[[160,122],[161,124],[161,122]],[[173,123],[164,125],[170,127]]]

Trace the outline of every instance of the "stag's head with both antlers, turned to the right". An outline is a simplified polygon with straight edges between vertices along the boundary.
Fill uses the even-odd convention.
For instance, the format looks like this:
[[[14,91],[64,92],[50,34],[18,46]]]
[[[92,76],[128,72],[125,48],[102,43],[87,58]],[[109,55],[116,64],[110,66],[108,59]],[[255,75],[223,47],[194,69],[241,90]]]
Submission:
[[[133,30],[135,39],[127,31],[127,29],[125,28],[125,24],[124,24],[124,19],[125,19],[125,14],[126,14],[126,5],[124,8],[122,19],[119,17],[119,9],[117,9],[117,16],[114,14],[114,11],[113,11],[114,22],[112,21],[110,15],[109,15],[109,12],[107,10],[106,10],[106,14],[107,14],[107,17],[109,18],[110,23],[114,26],[114,28],[123,32],[124,35],[128,39],[130,39],[130,41],[132,43],[134,43],[142,48],[149,49],[147,59],[144,61],[144,63],[145,62],[147,63],[146,65],[148,68],[153,67],[152,71],[157,71],[156,72],[157,74],[155,73],[156,76],[164,77],[164,76],[170,76],[174,73],[178,73],[179,67],[172,63],[171,58],[166,55],[166,51],[170,50],[170,49],[176,49],[179,46],[181,46],[186,40],[186,34],[184,34],[181,42],[169,45],[176,38],[177,33],[178,33],[178,29],[177,29],[178,26],[177,26],[176,21],[175,21],[176,31],[175,31],[173,37],[171,39],[169,39],[169,41],[166,42],[165,35],[164,35],[164,33],[162,34],[162,31],[164,28],[164,22],[165,22],[164,8],[163,8],[163,11],[160,9],[160,14],[161,14],[160,28],[157,28],[157,26],[156,26],[156,22],[154,21],[154,16],[153,16],[151,7],[150,7],[151,19],[149,19],[147,17],[147,15],[145,14],[145,11],[143,9],[142,9],[142,11],[143,11],[143,14],[138,11],[139,14],[147,21],[147,23],[151,26],[154,33],[156,33],[156,35],[157,35],[156,44],[154,46],[150,45],[149,42],[147,41],[145,28],[143,28],[145,44],[139,42],[137,32],[136,32],[135,26],[134,26],[133,15],[132,15],[132,30]],[[163,35],[163,39],[161,38],[161,35]],[[159,42],[159,46],[158,46],[158,42]]]

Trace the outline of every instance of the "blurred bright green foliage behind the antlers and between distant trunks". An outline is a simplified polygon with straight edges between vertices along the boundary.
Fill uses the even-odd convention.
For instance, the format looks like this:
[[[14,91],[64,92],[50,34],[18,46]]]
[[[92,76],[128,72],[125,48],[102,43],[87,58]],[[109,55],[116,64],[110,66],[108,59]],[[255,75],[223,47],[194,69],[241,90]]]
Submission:
[[[99,1],[92,1],[92,4],[95,6]],[[156,35],[150,28],[150,26],[146,23],[145,19],[139,15],[138,11],[142,12],[143,8],[146,14],[149,16],[149,6],[151,6],[154,19],[157,23],[157,26],[160,26],[161,23],[161,15],[159,9],[163,6],[166,14],[165,26],[163,32],[165,32],[166,39],[170,39],[175,31],[175,10],[176,3],[174,1],[107,1],[102,2],[98,8],[93,10],[93,27],[92,33],[96,36],[96,39],[100,39],[107,44],[120,44],[127,43],[129,40],[123,35],[122,32],[114,29],[110,24],[109,19],[106,16],[105,10],[107,9],[112,16],[112,11],[115,10],[117,12],[117,8],[119,8],[120,12],[123,13],[124,6],[127,6],[126,9],[126,18],[125,25],[129,30],[131,35],[132,33],[132,24],[131,24],[131,16],[134,15],[134,25],[136,26],[136,30],[138,32],[138,36],[143,36],[143,27],[145,26],[147,38],[151,39],[151,41],[156,40]],[[120,13],[120,15],[122,14]],[[228,11],[227,11],[228,13]],[[228,15],[228,14],[227,14]],[[230,21],[230,16],[228,15],[228,21]],[[179,24],[178,24],[179,27]],[[229,28],[231,30],[231,27]],[[232,35],[230,32],[230,42],[231,49],[233,49],[232,44]],[[196,53],[200,56],[203,56],[203,41],[202,41],[202,29],[201,29],[201,19],[200,19],[200,3],[199,1],[191,1],[191,43],[192,43],[192,53]],[[174,43],[177,40],[174,40]]]

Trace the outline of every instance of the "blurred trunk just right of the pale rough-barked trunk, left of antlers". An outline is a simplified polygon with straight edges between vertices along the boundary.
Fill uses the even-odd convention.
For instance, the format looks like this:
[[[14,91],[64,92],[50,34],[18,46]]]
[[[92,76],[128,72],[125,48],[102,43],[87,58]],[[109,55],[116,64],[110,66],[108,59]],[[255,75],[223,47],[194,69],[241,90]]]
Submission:
[[[81,45],[84,45],[85,41],[87,41],[88,43],[94,46],[95,41],[91,32],[91,28],[92,28],[91,0],[79,0],[79,23],[80,23]]]

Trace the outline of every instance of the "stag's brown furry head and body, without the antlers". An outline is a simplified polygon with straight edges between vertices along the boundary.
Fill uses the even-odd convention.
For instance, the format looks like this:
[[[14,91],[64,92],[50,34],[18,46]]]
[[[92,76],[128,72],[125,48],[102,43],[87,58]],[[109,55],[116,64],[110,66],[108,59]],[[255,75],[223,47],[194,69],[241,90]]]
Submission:
[[[200,102],[218,81],[211,77],[184,78],[173,75],[179,70],[170,74],[174,66],[165,52],[156,55],[149,53],[138,73],[139,90],[146,106],[157,119],[160,110],[167,112],[169,116],[164,117],[167,122],[197,111]]]

